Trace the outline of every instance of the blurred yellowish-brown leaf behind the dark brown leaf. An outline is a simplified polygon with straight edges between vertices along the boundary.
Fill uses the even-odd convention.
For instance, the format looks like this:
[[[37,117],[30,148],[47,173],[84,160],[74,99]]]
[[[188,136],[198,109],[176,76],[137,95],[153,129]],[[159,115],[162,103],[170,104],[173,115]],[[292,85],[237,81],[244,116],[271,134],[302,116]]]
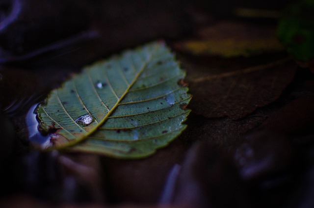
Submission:
[[[228,21],[201,29],[198,37],[177,43],[177,48],[194,55],[223,57],[251,56],[284,50],[272,27],[262,28]]]

